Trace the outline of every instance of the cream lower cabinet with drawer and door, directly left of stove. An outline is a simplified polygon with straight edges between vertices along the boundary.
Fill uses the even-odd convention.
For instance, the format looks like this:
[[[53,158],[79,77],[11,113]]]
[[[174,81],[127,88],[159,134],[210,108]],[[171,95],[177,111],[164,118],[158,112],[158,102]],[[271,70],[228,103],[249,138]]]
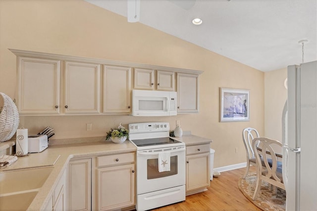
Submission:
[[[135,153],[97,158],[97,210],[116,210],[135,205]]]

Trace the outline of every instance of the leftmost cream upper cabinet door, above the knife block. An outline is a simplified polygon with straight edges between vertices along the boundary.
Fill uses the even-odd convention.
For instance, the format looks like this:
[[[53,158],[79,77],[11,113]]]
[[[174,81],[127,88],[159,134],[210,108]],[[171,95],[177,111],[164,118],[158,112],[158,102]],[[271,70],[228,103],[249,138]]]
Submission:
[[[58,114],[60,61],[18,57],[19,114]]]

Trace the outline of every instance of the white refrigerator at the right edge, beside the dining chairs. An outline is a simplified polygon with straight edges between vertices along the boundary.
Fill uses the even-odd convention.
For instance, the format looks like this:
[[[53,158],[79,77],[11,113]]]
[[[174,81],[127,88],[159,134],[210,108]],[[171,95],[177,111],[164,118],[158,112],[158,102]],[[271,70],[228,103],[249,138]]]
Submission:
[[[287,67],[283,181],[287,211],[317,211],[317,61]]]

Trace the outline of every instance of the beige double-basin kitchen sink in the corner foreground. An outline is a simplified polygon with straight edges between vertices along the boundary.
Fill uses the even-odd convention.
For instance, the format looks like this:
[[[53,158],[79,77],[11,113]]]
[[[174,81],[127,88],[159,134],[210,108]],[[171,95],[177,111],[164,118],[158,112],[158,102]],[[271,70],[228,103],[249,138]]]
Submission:
[[[0,172],[0,210],[27,210],[53,166]]]

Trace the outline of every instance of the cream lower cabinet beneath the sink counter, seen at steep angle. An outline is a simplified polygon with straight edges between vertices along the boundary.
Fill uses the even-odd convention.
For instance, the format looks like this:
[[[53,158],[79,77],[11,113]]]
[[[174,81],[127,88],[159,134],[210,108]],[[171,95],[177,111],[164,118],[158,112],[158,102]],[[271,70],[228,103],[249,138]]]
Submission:
[[[66,211],[66,169],[59,179],[45,211]]]

